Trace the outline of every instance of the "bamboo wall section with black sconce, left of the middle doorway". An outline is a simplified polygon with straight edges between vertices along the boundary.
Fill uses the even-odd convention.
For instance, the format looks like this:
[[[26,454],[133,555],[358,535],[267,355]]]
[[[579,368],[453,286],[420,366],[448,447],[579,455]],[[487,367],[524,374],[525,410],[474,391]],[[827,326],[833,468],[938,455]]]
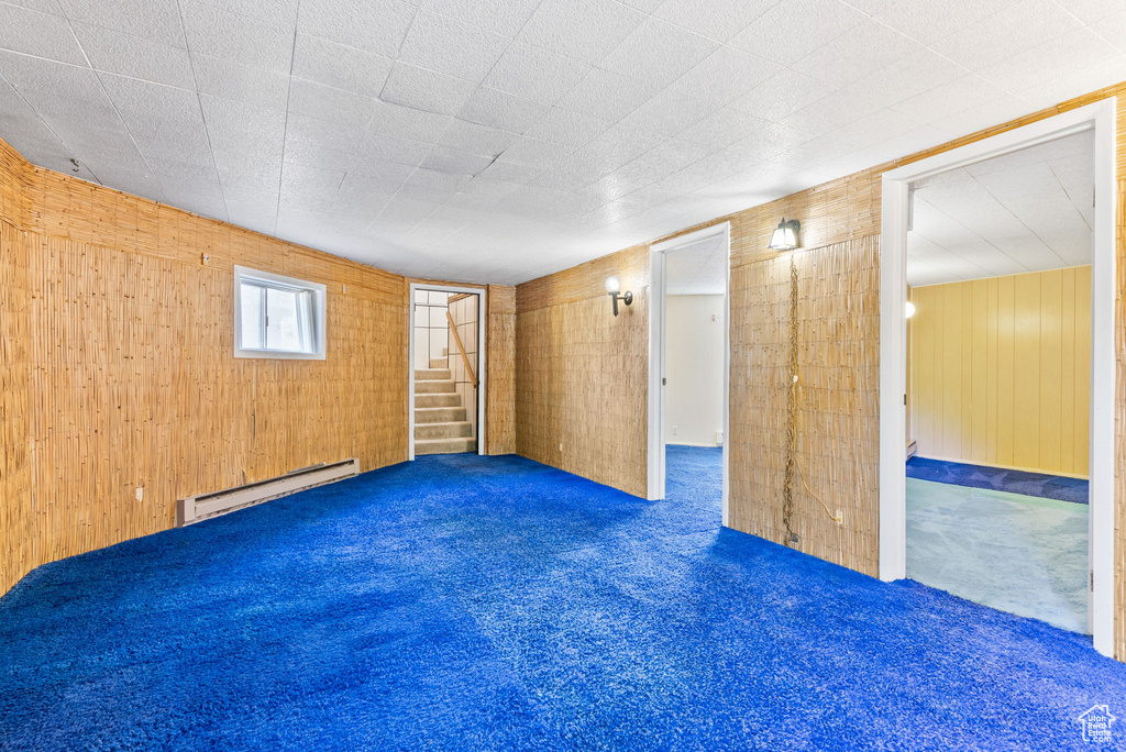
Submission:
[[[606,278],[634,293],[614,316]],[[516,289],[516,450],[646,493],[649,248]]]

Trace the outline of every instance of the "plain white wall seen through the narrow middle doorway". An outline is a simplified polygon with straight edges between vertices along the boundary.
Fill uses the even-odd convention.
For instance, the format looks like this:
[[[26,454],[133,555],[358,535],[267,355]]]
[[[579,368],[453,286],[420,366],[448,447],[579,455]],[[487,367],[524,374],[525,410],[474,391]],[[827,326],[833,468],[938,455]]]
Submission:
[[[664,438],[714,447],[723,430],[723,295],[667,301]]]

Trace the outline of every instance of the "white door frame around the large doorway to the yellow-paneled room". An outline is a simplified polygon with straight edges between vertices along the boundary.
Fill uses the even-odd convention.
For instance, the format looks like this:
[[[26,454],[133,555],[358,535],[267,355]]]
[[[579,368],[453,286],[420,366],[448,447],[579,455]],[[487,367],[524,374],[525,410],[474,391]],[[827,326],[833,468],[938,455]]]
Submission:
[[[1090,626],[1114,653],[1115,547],[1115,113],[1110,97],[883,176],[879,263],[879,578],[906,576],[906,244],[910,183],[1082,131],[1094,131],[1091,258]]]

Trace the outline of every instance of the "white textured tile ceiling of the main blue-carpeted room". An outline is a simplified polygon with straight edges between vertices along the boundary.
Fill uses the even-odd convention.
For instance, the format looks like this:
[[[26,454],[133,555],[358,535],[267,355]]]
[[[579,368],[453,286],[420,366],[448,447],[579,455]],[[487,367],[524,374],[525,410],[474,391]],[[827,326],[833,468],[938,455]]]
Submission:
[[[516,283],[1126,79],[1120,0],[0,1],[0,137]]]

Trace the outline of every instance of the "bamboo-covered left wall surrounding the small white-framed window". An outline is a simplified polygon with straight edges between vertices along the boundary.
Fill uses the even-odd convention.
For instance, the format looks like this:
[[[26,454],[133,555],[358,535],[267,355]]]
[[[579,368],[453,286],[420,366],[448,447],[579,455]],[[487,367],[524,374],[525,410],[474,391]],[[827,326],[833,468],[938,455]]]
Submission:
[[[29,198],[0,205],[0,592],[180,496],[405,459],[402,277],[5,155]],[[325,360],[234,358],[235,263],[328,285]]]

